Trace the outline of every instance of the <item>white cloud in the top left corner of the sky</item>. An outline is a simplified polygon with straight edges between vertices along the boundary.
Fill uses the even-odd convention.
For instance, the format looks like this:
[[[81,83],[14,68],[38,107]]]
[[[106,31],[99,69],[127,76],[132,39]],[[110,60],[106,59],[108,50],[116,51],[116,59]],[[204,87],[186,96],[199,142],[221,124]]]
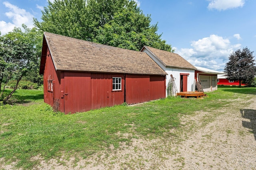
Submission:
[[[33,15],[26,10],[18,8],[17,6],[10,4],[9,2],[3,2],[4,6],[8,8],[8,12],[5,15],[12,21],[0,21],[0,31],[3,34],[12,31],[14,27],[22,27],[22,24],[26,24],[29,28],[33,27]]]

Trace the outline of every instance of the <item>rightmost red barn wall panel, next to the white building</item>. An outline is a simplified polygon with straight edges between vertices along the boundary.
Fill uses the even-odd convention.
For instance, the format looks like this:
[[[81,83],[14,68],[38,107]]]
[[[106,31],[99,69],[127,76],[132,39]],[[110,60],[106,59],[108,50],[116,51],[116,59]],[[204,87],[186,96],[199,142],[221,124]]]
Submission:
[[[165,76],[150,76],[150,100],[165,98]]]

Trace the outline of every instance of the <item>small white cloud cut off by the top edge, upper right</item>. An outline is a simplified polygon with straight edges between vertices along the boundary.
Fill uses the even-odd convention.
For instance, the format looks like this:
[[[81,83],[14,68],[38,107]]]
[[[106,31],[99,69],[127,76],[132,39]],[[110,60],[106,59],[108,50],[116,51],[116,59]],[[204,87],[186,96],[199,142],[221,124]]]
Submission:
[[[244,0],[208,0],[208,9],[227,10],[244,6]]]

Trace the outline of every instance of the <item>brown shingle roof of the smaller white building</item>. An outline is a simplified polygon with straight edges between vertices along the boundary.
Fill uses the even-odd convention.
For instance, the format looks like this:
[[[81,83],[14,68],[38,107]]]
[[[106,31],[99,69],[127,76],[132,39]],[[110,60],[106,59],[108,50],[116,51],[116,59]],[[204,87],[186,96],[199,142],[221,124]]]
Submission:
[[[188,61],[186,61],[176,53],[171,53],[169,51],[159,50],[159,49],[155,49],[148,46],[144,46],[143,48],[148,49],[148,51],[150,51],[155,57],[157,57],[166,66],[196,69],[196,67],[188,63]]]

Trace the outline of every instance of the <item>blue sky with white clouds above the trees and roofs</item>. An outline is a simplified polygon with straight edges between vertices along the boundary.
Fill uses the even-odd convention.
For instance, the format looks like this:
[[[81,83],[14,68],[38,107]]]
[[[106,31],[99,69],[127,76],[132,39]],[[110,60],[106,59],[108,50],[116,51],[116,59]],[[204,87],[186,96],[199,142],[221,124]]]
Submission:
[[[51,0],[53,1],[53,0]],[[194,66],[222,71],[230,53],[248,47],[256,53],[256,0],[136,0],[152,24],[158,23],[175,53]],[[0,0],[0,31],[22,23],[33,27],[47,0]]]

